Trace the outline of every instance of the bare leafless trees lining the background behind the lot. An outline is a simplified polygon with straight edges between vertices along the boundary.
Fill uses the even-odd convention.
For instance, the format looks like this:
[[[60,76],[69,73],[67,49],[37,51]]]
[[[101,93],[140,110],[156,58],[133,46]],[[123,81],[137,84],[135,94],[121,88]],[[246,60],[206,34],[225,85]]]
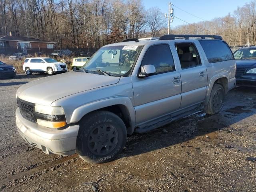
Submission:
[[[168,9],[168,4],[166,5]],[[175,20],[186,18],[176,15]],[[158,7],[145,10],[142,0],[0,0],[0,34],[57,43],[58,48],[99,48],[128,38],[167,34]],[[225,17],[184,24],[173,34],[219,34],[230,46],[256,44],[256,1]]]

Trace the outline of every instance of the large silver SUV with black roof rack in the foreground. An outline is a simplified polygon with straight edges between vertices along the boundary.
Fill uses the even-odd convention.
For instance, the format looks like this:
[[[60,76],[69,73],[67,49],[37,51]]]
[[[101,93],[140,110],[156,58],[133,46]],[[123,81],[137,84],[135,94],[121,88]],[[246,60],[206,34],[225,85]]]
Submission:
[[[80,71],[21,86],[16,124],[22,138],[46,154],[108,162],[127,134],[199,110],[220,112],[235,74],[220,36],[125,40],[100,48]]]

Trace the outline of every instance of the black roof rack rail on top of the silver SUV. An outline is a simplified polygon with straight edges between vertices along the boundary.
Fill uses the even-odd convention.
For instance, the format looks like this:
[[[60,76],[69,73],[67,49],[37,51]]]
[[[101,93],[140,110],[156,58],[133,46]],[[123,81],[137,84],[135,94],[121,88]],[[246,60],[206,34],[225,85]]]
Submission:
[[[218,39],[222,40],[221,36],[218,35],[164,35],[159,38],[159,40],[175,40],[175,39],[191,39],[191,38],[201,38],[201,39]]]

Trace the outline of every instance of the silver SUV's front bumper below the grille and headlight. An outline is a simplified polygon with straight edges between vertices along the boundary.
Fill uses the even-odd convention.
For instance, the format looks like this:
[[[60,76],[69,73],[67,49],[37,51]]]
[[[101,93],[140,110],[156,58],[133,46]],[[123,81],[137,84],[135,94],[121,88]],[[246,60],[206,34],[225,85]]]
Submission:
[[[72,155],[76,149],[79,125],[63,130],[51,129],[26,120],[16,109],[16,126],[19,134],[30,145],[36,146],[46,154]]]

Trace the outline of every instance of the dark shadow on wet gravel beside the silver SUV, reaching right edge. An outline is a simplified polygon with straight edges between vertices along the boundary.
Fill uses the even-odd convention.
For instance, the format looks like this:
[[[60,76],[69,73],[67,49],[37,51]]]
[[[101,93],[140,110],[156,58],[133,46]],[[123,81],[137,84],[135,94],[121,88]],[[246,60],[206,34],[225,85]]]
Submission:
[[[232,129],[232,124],[256,114],[256,88],[238,87],[231,90],[219,114],[198,112],[146,133],[128,136],[126,147],[117,158],[136,156],[182,142],[198,136],[206,142],[215,139],[217,130]],[[201,139],[201,138],[200,138]]]

